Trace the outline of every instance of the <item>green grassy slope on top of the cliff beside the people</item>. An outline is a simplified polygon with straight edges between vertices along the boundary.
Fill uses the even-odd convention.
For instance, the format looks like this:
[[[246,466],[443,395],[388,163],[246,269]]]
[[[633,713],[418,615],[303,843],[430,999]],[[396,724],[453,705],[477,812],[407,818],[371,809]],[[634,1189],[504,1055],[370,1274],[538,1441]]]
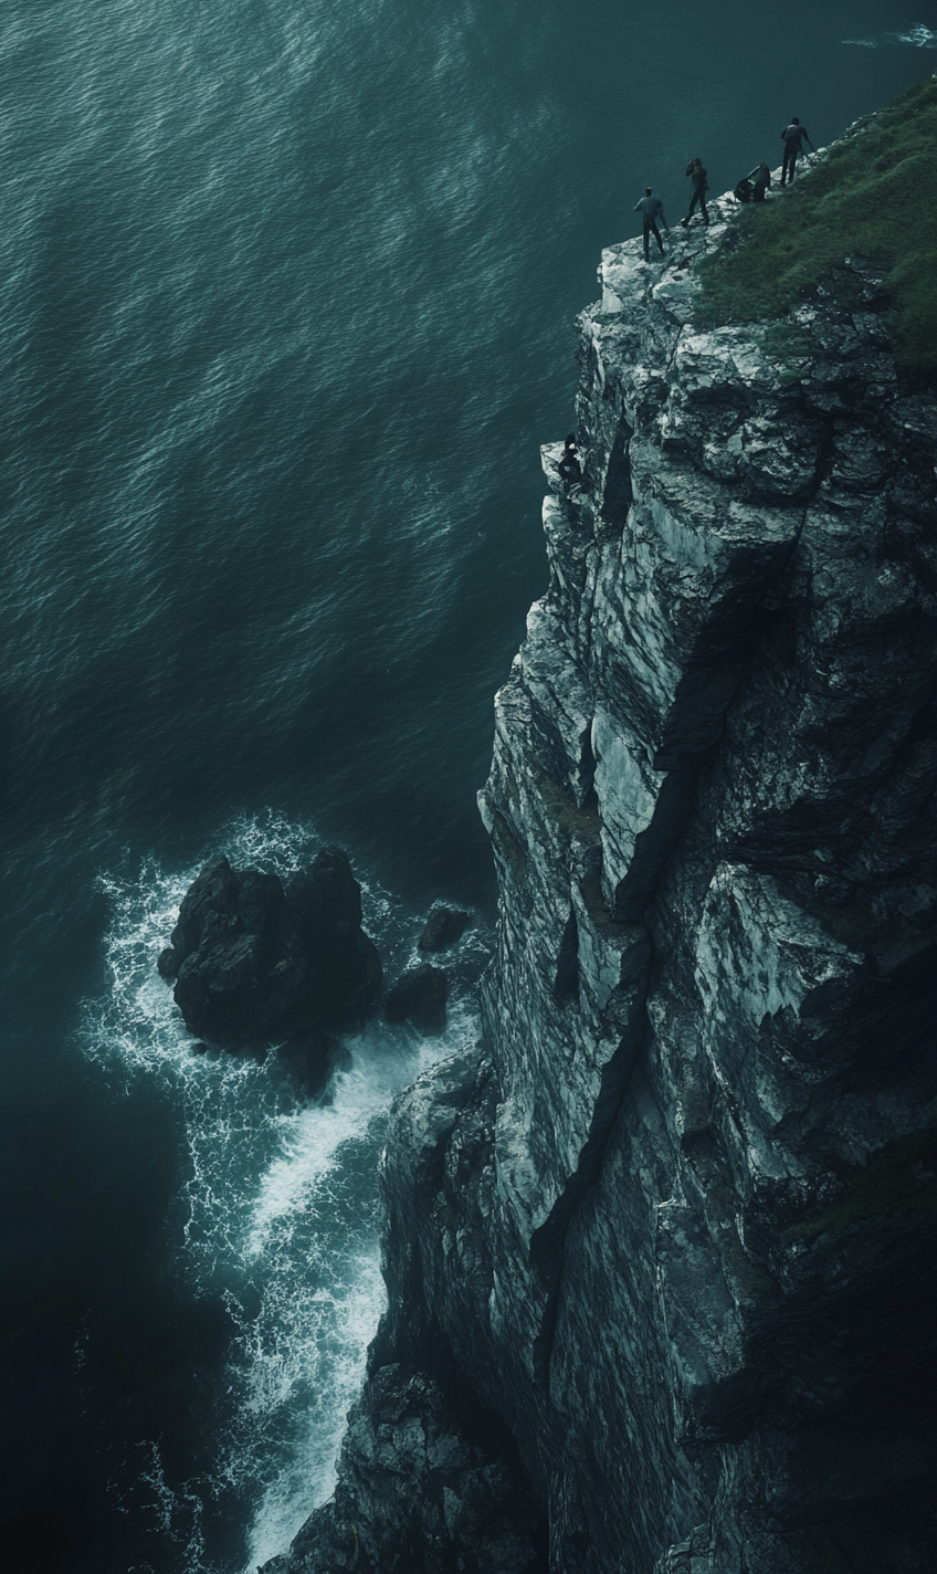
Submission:
[[[803,170],[803,161],[800,161]],[[915,82],[696,264],[701,327],[783,316],[846,257],[888,269],[902,359],[937,365],[937,77]],[[778,346],[780,349],[781,346]]]

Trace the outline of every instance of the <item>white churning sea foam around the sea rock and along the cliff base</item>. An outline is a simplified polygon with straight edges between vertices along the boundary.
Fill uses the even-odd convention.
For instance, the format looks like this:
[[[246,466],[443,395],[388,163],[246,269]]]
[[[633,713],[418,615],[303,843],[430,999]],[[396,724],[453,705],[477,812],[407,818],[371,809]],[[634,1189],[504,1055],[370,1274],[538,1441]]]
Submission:
[[[239,822],[220,845],[236,864],[286,874],[318,841],[267,815]],[[275,1058],[195,1055],[156,973],[193,874],[151,861],[138,880],[102,881],[113,903],[110,990],[86,1009],[85,1047],[115,1092],[151,1078],[171,1094],[189,1157],[176,1272],[193,1295],[223,1295],[236,1328],[212,1478],[170,1487],[156,1443],[135,1472],[135,1491],[179,1544],[181,1566],[209,1574],[201,1503],[211,1495],[234,1489],[253,1503],[253,1571],[288,1547],[333,1487],[344,1415],[385,1305],[376,1163],[387,1113],[401,1086],[470,1042],[478,1025],[470,992],[457,985],[440,1039],[374,1020],[347,1039],[351,1061],[321,1103],[299,1102]],[[404,966],[413,918],[380,889],[365,886],[363,900],[388,971]],[[465,948],[478,963],[484,937],[470,933]]]

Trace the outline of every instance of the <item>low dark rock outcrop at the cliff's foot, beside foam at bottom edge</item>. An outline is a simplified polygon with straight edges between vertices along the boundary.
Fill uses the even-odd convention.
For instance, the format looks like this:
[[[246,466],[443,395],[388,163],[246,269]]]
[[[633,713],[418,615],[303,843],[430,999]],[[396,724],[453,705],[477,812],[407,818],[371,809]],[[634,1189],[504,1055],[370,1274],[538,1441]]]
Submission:
[[[393,1365],[349,1413],[335,1498],[264,1574],[538,1574],[541,1541],[516,1450],[473,1437],[431,1377]]]

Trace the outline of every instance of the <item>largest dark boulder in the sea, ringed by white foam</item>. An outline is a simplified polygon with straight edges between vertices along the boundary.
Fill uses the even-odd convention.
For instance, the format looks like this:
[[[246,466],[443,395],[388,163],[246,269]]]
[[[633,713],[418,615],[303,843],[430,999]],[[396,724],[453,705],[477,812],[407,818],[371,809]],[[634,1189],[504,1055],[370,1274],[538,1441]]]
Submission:
[[[159,971],[176,977],[189,1031],[225,1045],[360,1014],[380,987],[360,886],[335,847],[286,888],[259,869],[234,870],[226,858],[208,864],[182,900]]]

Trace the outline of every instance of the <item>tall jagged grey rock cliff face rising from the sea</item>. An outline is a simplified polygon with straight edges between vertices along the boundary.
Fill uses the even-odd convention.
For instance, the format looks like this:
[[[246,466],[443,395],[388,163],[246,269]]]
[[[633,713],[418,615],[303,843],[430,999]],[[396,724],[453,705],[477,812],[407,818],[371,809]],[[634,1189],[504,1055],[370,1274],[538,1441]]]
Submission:
[[[395,1110],[390,1311],[281,1571],[934,1568],[937,400],[862,258],[799,359],[696,332],[720,208],[582,316],[484,1042]]]

